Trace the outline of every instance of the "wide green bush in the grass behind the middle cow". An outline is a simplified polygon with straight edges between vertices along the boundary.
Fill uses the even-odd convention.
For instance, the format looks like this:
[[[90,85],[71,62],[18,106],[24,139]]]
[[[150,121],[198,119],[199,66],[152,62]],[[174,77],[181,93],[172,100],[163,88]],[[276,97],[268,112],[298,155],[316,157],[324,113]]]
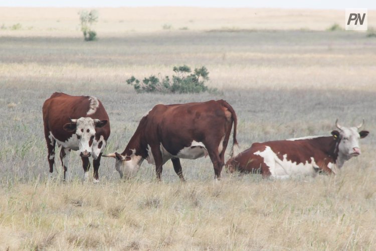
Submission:
[[[158,78],[151,75],[148,78],[144,78],[141,82],[132,76],[126,82],[133,85],[137,93],[199,93],[208,90],[216,91],[216,89],[209,89],[204,83],[209,80],[209,72],[205,66],[196,68],[193,73],[191,73],[191,68],[186,65],[175,66],[172,70],[175,72],[175,75],[172,77],[165,76]]]

